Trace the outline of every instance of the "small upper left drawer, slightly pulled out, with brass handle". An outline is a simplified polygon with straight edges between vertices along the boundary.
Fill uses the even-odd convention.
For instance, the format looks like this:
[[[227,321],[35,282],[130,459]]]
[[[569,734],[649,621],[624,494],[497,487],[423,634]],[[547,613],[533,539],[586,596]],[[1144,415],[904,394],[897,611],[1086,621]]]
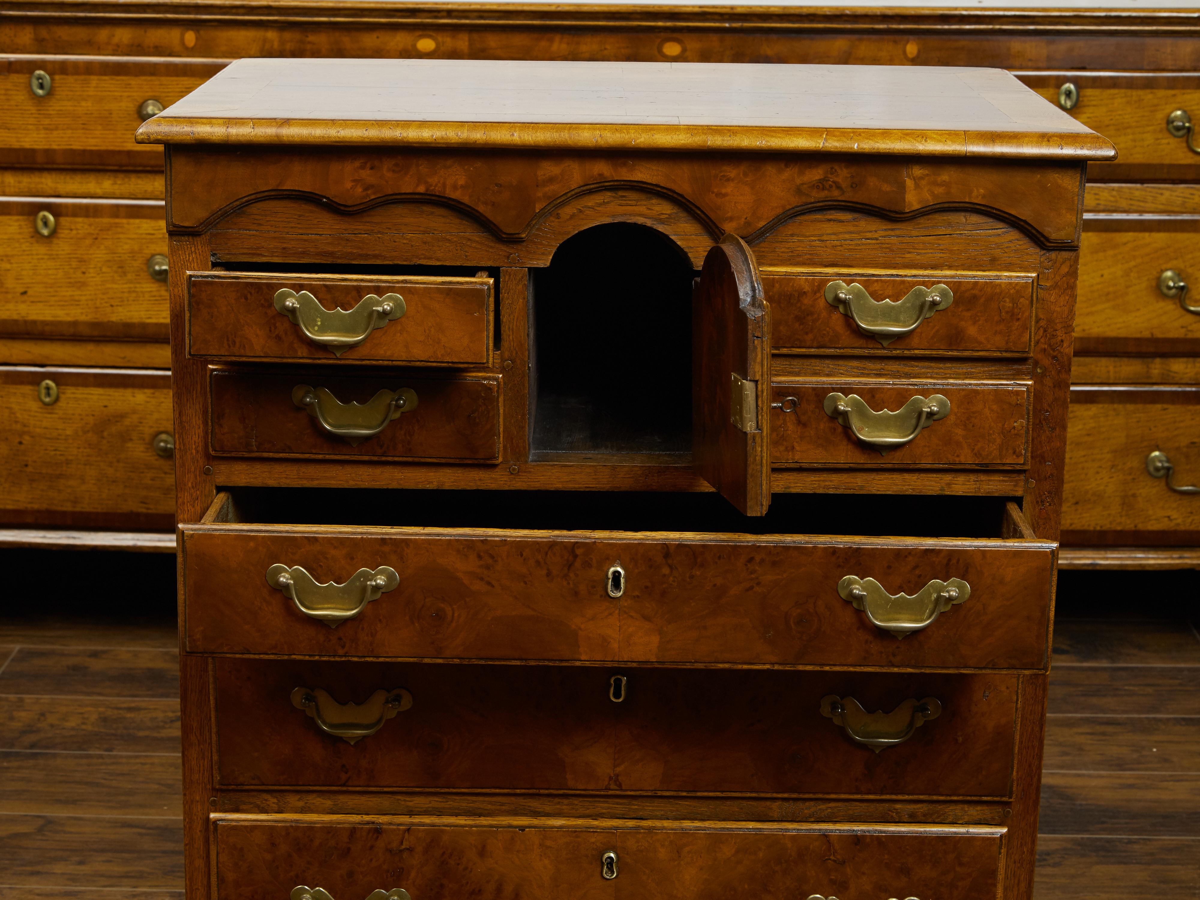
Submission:
[[[192,356],[486,365],[491,278],[190,272]]]

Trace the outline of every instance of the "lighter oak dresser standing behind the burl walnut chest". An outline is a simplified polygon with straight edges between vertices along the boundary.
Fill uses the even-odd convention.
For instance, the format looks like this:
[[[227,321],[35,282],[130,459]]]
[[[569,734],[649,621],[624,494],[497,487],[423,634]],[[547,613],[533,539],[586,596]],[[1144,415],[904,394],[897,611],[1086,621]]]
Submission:
[[[162,155],[132,134],[229,60],[853,62],[1008,68],[1117,145],[1088,167],[1062,564],[1200,564],[1175,491],[1200,484],[1200,11],[932,6],[0,0],[0,542],[173,546]]]

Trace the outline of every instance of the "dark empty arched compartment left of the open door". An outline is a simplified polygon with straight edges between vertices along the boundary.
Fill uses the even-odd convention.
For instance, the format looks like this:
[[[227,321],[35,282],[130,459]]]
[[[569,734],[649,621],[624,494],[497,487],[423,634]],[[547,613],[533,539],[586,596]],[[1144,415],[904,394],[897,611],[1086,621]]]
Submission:
[[[588,228],[533,277],[534,460],[691,452],[688,257],[640,224]]]

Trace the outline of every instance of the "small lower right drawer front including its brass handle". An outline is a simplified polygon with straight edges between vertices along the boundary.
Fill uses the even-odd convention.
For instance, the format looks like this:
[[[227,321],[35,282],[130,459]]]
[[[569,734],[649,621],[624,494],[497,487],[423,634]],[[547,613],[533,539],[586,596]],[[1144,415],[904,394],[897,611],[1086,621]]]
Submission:
[[[1021,468],[1030,383],[772,380],[770,461]]]

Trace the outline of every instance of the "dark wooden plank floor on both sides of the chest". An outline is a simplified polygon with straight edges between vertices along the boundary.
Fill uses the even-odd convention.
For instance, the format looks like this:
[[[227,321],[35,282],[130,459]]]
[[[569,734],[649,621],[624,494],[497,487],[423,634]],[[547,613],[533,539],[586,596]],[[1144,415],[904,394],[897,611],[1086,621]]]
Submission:
[[[172,560],[0,570],[23,572],[0,606],[0,900],[178,900]],[[1037,900],[1200,898],[1198,586],[1064,574]]]

